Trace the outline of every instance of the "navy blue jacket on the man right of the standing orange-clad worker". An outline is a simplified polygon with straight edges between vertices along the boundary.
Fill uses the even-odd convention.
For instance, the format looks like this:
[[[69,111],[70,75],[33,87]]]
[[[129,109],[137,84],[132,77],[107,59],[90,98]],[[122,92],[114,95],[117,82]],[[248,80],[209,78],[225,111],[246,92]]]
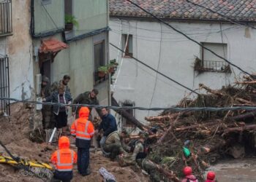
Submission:
[[[103,129],[103,135],[108,136],[111,132],[117,130],[116,119],[113,115],[107,114],[102,116],[102,122],[99,124],[98,130]]]

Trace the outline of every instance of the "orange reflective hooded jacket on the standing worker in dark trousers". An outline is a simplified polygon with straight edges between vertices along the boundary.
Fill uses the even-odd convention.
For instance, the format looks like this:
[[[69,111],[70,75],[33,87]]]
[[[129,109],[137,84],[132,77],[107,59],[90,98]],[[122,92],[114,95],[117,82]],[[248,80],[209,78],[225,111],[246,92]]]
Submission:
[[[80,108],[79,118],[71,125],[71,135],[82,140],[91,141],[91,138],[94,135],[94,125],[88,120],[89,114],[89,108]]]

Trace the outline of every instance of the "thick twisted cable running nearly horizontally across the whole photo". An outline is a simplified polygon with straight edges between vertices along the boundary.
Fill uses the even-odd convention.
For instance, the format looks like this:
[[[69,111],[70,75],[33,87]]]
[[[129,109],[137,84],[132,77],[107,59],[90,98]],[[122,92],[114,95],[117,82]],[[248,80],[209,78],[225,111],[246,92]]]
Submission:
[[[154,108],[147,108],[147,107],[139,107],[139,106],[100,106],[100,105],[89,105],[89,104],[64,104],[64,103],[48,103],[48,102],[38,102],[38,101],[30,101],[30,100],[18,100],[15,98],[0,98],[0,100],[12,100],[15,101],[15,103],[33,103],[33,104],[42,104],[42,105],[48,105],[48,106],[85,106],[89,108],[111,108],[113,110],[118,109],[138,109],[142,111],[163,111],[163,110],[170,110],[170,111],[181,111],[181,112],[187,112],[187,111],[255,111],[256,106],[227,106],[227,107],[192,107],[192,108],[180,108],[177,106],[171,106],[171,107],[154,107]]]

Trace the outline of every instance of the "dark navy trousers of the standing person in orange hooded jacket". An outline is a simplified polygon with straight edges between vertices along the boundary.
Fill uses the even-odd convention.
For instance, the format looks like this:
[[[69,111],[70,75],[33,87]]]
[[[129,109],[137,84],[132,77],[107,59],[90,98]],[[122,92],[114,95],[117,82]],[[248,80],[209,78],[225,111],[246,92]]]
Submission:
[[[89,148],[78,147],[78,172],[81,175],[86,175],[88,173],[89,160],[90,160]]]

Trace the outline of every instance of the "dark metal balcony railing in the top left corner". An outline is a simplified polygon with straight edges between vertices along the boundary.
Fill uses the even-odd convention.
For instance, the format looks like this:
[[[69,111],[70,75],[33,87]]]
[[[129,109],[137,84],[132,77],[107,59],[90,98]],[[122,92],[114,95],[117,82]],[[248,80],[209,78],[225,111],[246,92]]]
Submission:
[[[0,1],[0,36],[12,33],[12,0]]]

